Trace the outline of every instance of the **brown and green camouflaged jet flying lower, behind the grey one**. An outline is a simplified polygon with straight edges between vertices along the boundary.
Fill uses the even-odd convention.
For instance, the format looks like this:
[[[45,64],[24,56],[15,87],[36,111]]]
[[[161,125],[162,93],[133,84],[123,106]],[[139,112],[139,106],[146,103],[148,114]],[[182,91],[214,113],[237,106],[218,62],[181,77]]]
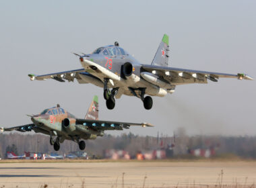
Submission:
[[[84,119],[75,118],[74,115],[59,105],[44,109],[38,115],[29,116],[33,124],[1,128],[1,132],[12,130],[30,132],[34,130],[36,133],[50,135],[50,144],[53,145],[56,151],[59,150],[60,143],[63,143],[64,140],[73,140],[77,142],[80,150],[84,150],[86,148],[84,140],[94,140],[97,136],[103,136],[105,130],[123,130],[129,129],[130,126],[152,127],[151,124],[147,123],[136,124],[98,120],[98,96],[94,96]]]

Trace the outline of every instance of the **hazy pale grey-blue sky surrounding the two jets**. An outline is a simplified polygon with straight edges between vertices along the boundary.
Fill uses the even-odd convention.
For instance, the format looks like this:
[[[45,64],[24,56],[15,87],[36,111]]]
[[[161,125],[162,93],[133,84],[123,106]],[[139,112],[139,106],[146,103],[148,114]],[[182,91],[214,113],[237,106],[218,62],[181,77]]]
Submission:
[[[110,111],[99,87],[27,76],[81,68],[70,52],[90,53],[115,41],[150,64],[166,33],[169,66],[256,78],[255,9],[253,0],[2,1],[0,124],[28,124],[26,114],[57,103],[84,118],[96,94],[100,119],[156,125],[128,130],[134,134],[172,135],[185,127],[189,134],[256,135],[256,81],[181,85],[172,95],[153,97],[150,111],[136,97],[123,96]]]

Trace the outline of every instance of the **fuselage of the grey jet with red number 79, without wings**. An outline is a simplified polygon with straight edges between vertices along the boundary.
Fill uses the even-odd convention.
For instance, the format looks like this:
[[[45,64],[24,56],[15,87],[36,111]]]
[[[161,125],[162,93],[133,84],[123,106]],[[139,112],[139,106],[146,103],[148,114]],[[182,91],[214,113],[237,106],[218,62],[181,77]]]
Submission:
[[[145,88],[145,93],[153,96],[164,97],[167,94],[166,89],[162,89],[157,85],[146,81],[141,77],[141,64],[133,58],[130,54],[125,52],[119,46],[104,46],[96,49],[92,54],[86,54],[80,57],[82,66],[85,68],[86,73],[80,73],[84,81],[88,81],[88,73],[99,79],[102,83],[97,81],[88,81],[94,85],[103,87],[104,78],[106,75],[112,78],[113,84],[108,83],[109,88],[119,88],[119,93],[116,98],[124,95],[134,95],[131,88],[138,94],[137,89]],[[88,63],[89,62],[89,63]],[[98,66],[93,66],[90,62],[96,63]],[[126,66],[127,65],[127,66]],[[127,69],[125,75],[124,68]],[[103,73],[103,74],[102,74]],[[171,87],[171,86],[170,86]]]

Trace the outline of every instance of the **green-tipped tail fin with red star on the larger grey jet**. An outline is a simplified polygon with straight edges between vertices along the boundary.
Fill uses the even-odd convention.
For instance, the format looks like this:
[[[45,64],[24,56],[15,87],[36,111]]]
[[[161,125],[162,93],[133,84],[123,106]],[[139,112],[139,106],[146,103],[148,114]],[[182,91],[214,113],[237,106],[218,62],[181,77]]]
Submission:
[[[162,41],[156,51],[152,65],[168,66],[169,37],[164,34]]]

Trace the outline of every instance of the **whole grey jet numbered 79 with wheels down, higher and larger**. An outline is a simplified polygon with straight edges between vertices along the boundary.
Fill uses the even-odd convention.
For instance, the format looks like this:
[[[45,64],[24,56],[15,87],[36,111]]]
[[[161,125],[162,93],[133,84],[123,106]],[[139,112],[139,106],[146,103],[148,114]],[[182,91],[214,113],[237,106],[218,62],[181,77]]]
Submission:
[[[144,107],[151,109],[152,97],[145,97],[145,95],[164,97],[167,93],[173,93],[177,85],[207,83],[207,80],[217,82],[219,78],[253,80],[243,73],[232,75],[168,67],[168,53],[169,40],[166,34],[162,38],[151,65],[140,64],[123,48],[120,48],[118,42],[115,42],[115,46],[97,48],[92,54],[74,53],[79,56],[84,68],[48,75],[28,76],[32,81],[34,79],[39,81],[55,79],[65,82],[65,80],[77,79],[78,83],[92,83],[103,87],[108,109],[115,107],[115,98],[119,99],[121,95],[139,97]]]

